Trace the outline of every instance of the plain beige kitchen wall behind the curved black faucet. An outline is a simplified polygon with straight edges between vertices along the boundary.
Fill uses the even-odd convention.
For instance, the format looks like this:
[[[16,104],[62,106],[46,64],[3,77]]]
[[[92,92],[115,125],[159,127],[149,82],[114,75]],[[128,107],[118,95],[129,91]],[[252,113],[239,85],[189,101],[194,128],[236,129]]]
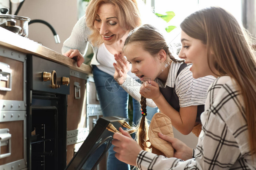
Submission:
[[[50,23],[60,36],[60,44],[55,44],[50,28],[42,23],[29,25],[28,38],[61,53],[63,42],[77,22],[77,0],[25,0],[18,15]]]

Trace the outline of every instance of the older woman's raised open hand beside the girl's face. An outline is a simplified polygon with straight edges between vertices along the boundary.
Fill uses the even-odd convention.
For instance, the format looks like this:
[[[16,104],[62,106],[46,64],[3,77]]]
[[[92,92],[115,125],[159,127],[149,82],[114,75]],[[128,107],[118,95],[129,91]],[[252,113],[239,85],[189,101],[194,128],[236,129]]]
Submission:
[[[123,84],[127,77],[127,72],[130,70],[130,64],[121,54],[115,54],[115,61],[113,66],[115,68],[114,79],[119,85]]]

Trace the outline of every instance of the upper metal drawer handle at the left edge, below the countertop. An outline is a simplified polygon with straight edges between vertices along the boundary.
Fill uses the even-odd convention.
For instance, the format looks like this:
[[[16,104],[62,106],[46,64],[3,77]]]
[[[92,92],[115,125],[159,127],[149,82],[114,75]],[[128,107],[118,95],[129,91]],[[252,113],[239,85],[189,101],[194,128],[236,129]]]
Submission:
[[[2,62],[0,62],[0,82],[1,81],[9,82],[8,88],[0,87],[1,91],[12,90],[12,71],[8,64]]]

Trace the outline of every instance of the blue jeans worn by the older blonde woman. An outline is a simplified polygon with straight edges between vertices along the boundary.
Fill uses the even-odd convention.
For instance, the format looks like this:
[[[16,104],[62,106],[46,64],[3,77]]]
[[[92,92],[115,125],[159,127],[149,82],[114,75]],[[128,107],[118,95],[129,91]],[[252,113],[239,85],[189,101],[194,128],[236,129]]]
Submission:
[[[128,93],[121,88],[113,76],[99,70],[93,65],[93,79],[99,96],[99,102],[103,116],[121,116],[128,118]],[[133,122],[141,117],[140,104],[133,99]],[[148,109],[147,118],[151,120],[157,108]],[[130,166],[115,158],[113,145],[109,149],[107,158],[107,170],[129,170]]]

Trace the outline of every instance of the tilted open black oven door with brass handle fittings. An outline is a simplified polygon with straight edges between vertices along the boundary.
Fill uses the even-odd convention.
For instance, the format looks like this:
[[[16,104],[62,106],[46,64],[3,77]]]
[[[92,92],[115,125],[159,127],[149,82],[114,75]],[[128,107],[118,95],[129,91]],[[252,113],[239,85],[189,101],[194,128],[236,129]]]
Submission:
[[[99,118],[65,170],[95,169],[112,145],[111,141],[115,129],[118,130],[119,127],[124,127],[124,121],[128,120],[119,116]]]

